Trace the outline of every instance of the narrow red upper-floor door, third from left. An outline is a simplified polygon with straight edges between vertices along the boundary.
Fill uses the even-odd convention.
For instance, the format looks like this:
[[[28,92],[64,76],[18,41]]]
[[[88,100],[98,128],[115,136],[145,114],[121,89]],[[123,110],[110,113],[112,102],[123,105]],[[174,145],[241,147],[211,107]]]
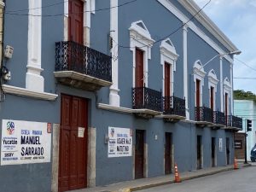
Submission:
[[[170,98],[170,64],[165,63],[165,110],[169,110],[171,107]]]

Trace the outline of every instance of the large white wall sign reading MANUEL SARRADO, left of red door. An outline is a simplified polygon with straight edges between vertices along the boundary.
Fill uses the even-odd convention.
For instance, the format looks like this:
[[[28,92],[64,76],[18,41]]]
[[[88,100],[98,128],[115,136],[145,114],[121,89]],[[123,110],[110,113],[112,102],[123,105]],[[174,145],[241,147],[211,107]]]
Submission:
[[[1,166],[50,162],[51,124],[3,119]]]

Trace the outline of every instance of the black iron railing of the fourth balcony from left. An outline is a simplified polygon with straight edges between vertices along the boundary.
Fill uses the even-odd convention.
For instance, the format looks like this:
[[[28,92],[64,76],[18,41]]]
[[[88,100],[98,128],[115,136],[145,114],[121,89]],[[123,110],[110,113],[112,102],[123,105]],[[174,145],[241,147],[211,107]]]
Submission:
[[[213,111],[207,107],[195,107],[195,120],[213,123]]]

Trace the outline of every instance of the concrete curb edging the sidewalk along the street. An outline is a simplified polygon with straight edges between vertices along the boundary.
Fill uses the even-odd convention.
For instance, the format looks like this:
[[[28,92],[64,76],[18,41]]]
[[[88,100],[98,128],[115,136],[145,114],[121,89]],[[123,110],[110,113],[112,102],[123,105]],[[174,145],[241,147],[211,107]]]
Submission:
[[[241,165],[239,168],[243,168],[243,167],[247,167],[247,166],[252,166],[252,165],[251,164],[244,164],[244,165]],[[205,173],[201,173],[201,174],[193,175],[193,176],[188,176],[188,177],[181,177],[181,180],[186,181],[186,180],[190,180],[190,179],[193,179],[193,178],[206,177],[206,176],[217,174],[219,172],[228,172],[228,171],[232,171],[232,170],[234,170],[233,167],[227,167],[227,168],[217,170],[217,171],[205,172]],[[121,189],[121,190],[119,190],[119,192],[137,191],[137,190],[142,190],[142,189],[158,187],[160,185],[165,185],[165,184],[170,184],[170,183],[174,183],[174,179],[171,179],[168,182],[150,183],[150,184],[145,184],[145,185],[142,185],[142,186],[132,187],[130,189],[129,188],[126,188],[125,190]]]

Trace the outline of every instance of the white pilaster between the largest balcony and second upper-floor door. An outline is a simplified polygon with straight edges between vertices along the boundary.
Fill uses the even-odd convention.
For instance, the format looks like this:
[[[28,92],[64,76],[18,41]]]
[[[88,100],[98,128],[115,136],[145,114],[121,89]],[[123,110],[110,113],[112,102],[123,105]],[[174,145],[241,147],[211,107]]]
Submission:
[[[109,35],[113,38],[113,48],[111,49],[112,55],[112,81],[113,84],[110,87],[109,92],[109,104],[115,107],[120,106],[119,96],[119,36],[118,36],[118,0],[111,0],[110,7],[110,32]]]

